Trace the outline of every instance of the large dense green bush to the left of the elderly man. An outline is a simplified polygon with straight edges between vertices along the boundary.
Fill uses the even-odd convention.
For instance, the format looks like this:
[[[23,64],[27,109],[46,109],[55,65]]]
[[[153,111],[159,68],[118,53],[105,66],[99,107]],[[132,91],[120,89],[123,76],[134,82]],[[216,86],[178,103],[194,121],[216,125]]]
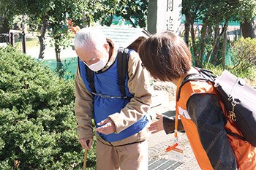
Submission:
[[[82,169],[73,80],[0,47],[0,168]],[[95,167],[95,150],[87,166]]]

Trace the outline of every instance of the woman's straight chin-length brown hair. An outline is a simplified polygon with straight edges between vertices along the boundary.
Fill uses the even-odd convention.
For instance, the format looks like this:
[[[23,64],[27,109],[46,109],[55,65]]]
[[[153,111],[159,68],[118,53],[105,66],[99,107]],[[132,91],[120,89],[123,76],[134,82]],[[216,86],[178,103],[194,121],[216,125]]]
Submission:
[[[141,43],[138,51],[151,76],[161,81],[178,79],[192,67],[186,43],[170,31],[152,35]]]

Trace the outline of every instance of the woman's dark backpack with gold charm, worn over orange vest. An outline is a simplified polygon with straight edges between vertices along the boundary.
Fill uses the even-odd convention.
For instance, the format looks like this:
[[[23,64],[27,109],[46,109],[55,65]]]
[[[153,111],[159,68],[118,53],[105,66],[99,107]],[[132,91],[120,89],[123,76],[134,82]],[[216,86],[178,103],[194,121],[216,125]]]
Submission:
[[[229,113],[227,116],[232,118],[244,137],[230,131],[227,131],[227,134],[237,136],[256,147],[256,90],[227,70],[220,76],[207,69],[198,71],[200,74],[187,76],[182,85],[189,81],[212,82]]]

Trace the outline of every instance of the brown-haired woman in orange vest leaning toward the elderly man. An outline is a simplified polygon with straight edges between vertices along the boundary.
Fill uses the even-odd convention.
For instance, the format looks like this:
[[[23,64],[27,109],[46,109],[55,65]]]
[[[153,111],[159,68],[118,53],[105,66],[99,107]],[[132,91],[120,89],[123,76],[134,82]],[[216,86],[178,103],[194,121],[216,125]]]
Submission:
[[[256,169],[256,148],[226,133],[228,130],[242,136],[236,124],[225,117],[224,105],[212,83],[184,83],[187,77],[200,74],[200,69],[192,66],[189,48],[179,36],[170,31],[154,34],[142,42],[139,55],[154,79],[177,85],[176,119],[158,115],[160,119],[151,123],[149,131],[165,130],[177,137],[183,125],[201,169]]]

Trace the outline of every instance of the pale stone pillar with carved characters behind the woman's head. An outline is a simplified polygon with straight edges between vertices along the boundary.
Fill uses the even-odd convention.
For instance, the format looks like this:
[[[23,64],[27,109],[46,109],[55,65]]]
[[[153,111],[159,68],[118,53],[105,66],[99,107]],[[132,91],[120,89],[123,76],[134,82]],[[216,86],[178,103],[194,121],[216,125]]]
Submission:
[[[155,34],[161,31],[173,31],[181,34],[182,0],[149,0],[148,31]]]

